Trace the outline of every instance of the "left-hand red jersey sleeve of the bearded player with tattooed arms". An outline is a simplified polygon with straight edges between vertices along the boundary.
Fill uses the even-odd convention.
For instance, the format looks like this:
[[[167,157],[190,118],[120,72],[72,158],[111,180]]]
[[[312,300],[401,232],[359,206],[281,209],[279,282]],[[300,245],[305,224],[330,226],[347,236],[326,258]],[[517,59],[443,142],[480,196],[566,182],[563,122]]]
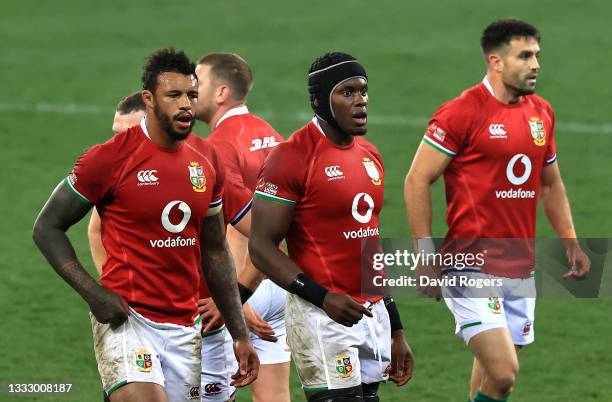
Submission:
[[[85,151],[64,180],[64,184],[85,203],[102,204],[112,190],[114,163],[107,151],[104,145]]]

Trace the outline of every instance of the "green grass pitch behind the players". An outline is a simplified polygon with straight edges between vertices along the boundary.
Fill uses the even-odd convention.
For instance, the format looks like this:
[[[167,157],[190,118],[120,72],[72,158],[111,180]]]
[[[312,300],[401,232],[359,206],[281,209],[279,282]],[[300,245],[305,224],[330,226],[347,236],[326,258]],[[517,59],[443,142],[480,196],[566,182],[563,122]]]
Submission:
[[[101,400],[86,304],[35,249],[31,227],[81,152],[110,136],[116,102],[139,89],[141,66],[153,50],[173,45],[193,58],[240,53],[255,75],[251,110],[284,136],[310,113],[305,80],[314,58],[330,50],[357,56],[370,78],[368,136],[386,164],[382,232],[405,237],[402,184],[427,117],[482,79],[478,39],[489,22],[526,19],[543,33],[538,91],[556,110],[559,164],[579,234],[609,237],[611,15],[611,3],[577,0],[4,0],[0,383],[70,382],[74,393],[0,399]],[[195,131],[208,132],[203,124]],[[439,183],[434,198],[435,233],[442,236]],[[92,267],[85,225],[70,235]],[[543,214],[538,235],[552,236]],[[452,334],[446,307],[431,300],[401,300],[400,306],[416,353],[415,375],[404,388],[383,386],[381,399],[464,401],[471,357]],[[521,356],[512,400],[612,401],[611,317],[610,300],[540,300],[537,341]],[[303,400],[293,372],[291,384],[294,400]],[[248,391],[238,399],[248,400]]]

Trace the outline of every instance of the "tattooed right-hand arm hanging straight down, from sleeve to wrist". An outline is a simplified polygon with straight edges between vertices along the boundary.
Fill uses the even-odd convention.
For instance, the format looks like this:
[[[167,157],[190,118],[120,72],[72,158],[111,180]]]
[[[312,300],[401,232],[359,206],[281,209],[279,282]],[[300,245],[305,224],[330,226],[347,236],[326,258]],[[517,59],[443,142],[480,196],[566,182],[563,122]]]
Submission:
[[[204,219],[200,233],[202,272],[225,325],[234,340],[247,339],[234,260],[225,241],[223,213]]]

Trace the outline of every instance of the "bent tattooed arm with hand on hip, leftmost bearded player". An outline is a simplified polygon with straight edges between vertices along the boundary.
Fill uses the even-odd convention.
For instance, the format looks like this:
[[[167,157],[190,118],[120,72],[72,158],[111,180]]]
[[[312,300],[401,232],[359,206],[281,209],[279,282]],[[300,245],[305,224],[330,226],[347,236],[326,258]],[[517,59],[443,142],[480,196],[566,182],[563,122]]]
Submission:
[[[68,228],[79,222],[91,207],[92,204],[79,200],[60,183],[36,218],[33,238],[53,269],[89,304],[96,319],[118,326],[127,319],[126,302],[91,277],[66,236]]]

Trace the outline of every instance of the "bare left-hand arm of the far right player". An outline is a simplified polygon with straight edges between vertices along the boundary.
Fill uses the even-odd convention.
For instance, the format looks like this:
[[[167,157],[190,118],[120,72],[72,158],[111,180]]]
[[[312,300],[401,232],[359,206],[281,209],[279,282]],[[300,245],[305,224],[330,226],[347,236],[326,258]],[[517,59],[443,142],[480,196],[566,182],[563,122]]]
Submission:
[[[412,166],[404,181],[404,202],[410,233],[415,250],[427,245],[418,244],[419,239],[431,237],[431,185],[442,175],[452,158],[421,142]],[[427,250],[429,251],[429,250]],[[417,277],[439,277],[440,273],[429,266],[417,266]],[[429,297],[440,297],[438,287],[421,287],[417,290]]]

